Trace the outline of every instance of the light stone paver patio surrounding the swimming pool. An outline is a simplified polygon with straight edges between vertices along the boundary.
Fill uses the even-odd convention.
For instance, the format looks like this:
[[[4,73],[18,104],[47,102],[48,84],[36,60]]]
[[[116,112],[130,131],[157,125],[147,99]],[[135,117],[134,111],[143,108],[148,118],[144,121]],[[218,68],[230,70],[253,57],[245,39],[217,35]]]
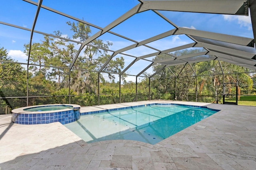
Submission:
[[[206,105],[222,111],[151,145],[132,140],[87,144],[60,123],[17,125],[0,116],[0,169],[237,169],[256,167],[256,107],[178,101],[142,101],[81,110],[147,103]]]

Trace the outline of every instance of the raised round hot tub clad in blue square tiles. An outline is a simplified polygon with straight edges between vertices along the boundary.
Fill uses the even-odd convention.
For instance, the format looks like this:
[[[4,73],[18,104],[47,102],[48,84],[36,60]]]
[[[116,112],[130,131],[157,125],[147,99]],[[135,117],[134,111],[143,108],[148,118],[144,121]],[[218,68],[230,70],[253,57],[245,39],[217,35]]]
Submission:
[[[12,121],[22,125],[60,122],[62,125],[80,119],[80,105],[53,104],[21,107],[12,110]]]

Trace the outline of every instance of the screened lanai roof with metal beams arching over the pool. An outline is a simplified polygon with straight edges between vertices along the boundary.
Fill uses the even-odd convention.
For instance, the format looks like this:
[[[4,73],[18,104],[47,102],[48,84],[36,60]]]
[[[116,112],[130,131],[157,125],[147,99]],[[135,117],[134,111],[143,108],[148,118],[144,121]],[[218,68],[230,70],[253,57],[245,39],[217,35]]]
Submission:
[[[119,74],[130,73],[137,77],[155,64],[162,67],[150,77],[169,66],[210,60],[256,70],[254,0],[112,0],[97,3],[67,0],[62,4],[51,0],[10,0],[1,4],[0,30],[8,30],[6,32],[19,37],[21,43],[38,42],[43,35],[77,43],[78,53],[70,63],[69,70],[73,69],[83,48],[93,46],[91,42],[97,38],[113,43],[105,49],[110,57],[96,70],[98,73],[104,72],[111,59],[120,56],[125,56],[125,67]],[[240,28],[231,27],[228,19],[219,22],[218,17],[223,15],[250,17],[251,29],[248,28],[243,34],[238,33],[236,29]],[[195,28],[199,20],[201,24]],[[90,38],[84,42],[68,38],[71,37],[66,24],[68,21],[88,24],[92,30]],[[62,36],[54,36],[56,30],[60,30]],[[8,45],[7,41],[0,43]],[[171,55],[178,50],[193,48],[204,50],[178,57]],[[161,54],[170,57],[154,59]],[[24,58],[29,65],[30,51]]]

